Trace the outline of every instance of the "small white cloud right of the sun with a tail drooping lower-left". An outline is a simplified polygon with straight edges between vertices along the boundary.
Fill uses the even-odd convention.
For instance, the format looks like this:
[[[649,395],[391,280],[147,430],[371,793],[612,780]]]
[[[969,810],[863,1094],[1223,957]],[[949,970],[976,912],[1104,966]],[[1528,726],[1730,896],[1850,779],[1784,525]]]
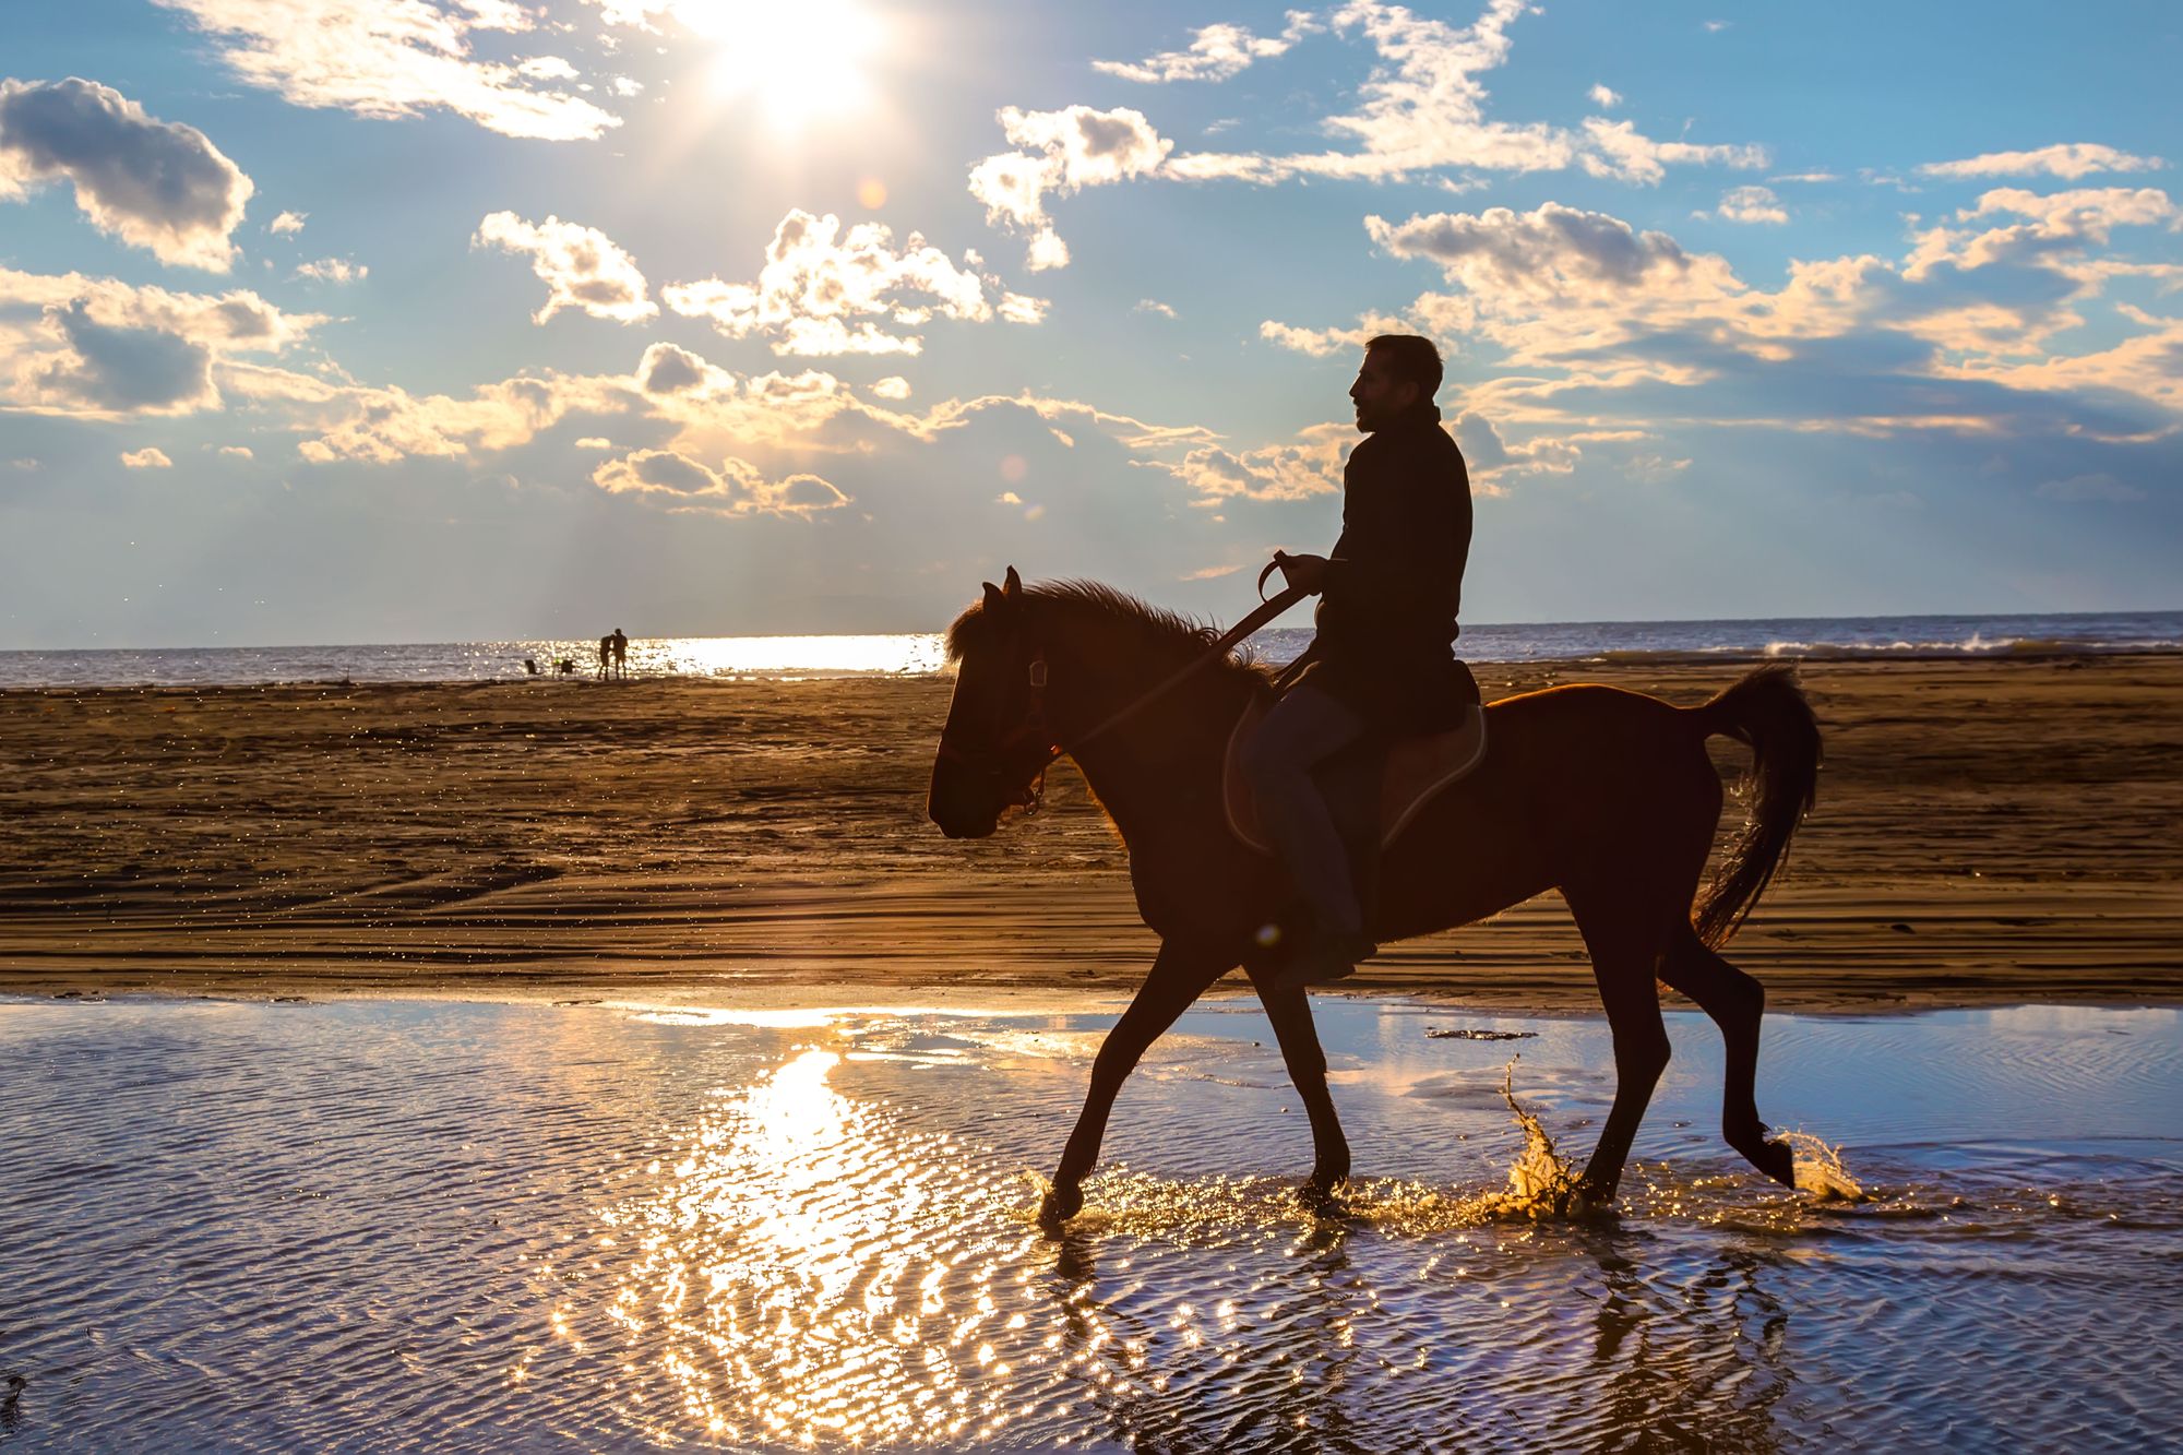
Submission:
[[[1030,271],[1067,267],[1070,249],[1046,214],[1048,192],[1067,197],[1083,188],[1157,173],[1174,151],[1144,111],[1067,107],[1019,111],[1002,107],[1000,129],[1013,146],[969,173],[969,194],[985,203],[985,221],[1030,234]]]

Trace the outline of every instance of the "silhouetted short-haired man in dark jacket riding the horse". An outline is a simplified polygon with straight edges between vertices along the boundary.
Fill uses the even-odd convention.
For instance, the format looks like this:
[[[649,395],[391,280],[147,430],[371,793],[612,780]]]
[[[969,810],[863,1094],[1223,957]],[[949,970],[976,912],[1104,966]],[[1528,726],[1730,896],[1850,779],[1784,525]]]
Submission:
[[[1290,985],[1343,979],[1377,953],[1319,773],[1345,752],[1377,758],[1391,738],[1452,730],[1478,706],[1478,684],[1452,649],[1471,485],[1441,428],[1439,387],[1430,339],[1380,334],[1364,345],[1349,398],[1367,439],[1343,468],[1343,533],[1332,555],[1275,557],[1292,588],[1319,594],[1303,673],[1244,752],[1266,835],[1312,920],[1286,961]],[[1373,802],[1377,773],[1362,782]]]

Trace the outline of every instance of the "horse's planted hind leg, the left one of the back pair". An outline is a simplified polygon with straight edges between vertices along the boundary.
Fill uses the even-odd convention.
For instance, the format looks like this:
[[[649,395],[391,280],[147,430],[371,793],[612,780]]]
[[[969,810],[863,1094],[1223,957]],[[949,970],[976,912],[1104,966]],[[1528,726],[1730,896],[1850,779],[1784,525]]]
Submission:
[[[1615,1103],[1600,1129],[1600,1145],[1585,1162],[1583,1180],[1591,1202],[1609,1204],[1622,1184],[1622,1164],[1629,1162],[1631,1140],[1653,1101],[1659,1073],[1668,1068],[1668,1029],[1659,1020],[1659,987],[1653,983],[1663,915],[1631,902],[1629,894],[1576,894],[1563,887],[1563,898],[1591,950],[1591,974],[1615,1038]]]

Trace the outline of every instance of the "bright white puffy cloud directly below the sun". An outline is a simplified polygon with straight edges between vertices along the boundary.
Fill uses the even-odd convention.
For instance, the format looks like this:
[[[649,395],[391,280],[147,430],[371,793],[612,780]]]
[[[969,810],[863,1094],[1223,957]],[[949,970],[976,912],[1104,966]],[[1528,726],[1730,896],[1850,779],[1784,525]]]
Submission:
[[[919,234],[897,249],[884,223],[843,232],[834,214],[792,210],[773,229],[758,282],[707,277],[659,291],[668,308],[709,319],[729,339],[771,341],[775,354],[919,354],[932,319],[1037,323],[1041,299],[958,267]]]

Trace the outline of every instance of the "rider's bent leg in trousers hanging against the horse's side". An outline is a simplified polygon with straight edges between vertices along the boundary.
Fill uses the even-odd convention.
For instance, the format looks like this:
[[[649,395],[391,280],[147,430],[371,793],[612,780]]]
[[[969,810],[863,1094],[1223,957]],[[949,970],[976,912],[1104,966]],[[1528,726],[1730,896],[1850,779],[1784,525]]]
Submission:
[[[1364,913],[1349,850],[1312,769],[1364,736],[1364,721],[1305,684],[1273,706],[1244,745],[1242,769],[1275,852],[1316,920],[1305,979],[1334,979],[1362,955]]]

